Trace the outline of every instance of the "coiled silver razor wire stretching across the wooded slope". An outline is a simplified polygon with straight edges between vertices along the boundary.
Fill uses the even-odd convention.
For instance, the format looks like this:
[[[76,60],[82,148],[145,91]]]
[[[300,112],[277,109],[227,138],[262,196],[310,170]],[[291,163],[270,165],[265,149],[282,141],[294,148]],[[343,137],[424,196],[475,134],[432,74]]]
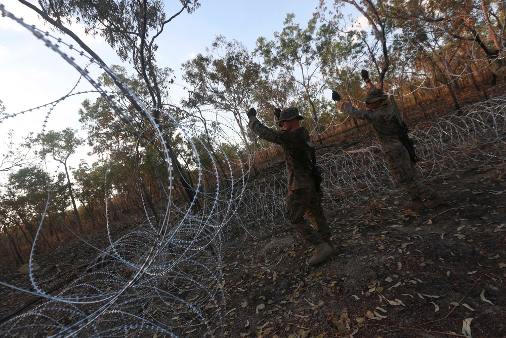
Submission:
[[[53,187],[49,187],[46,210],[40,215],[30,253],[30,287],[0,281],[4,287],[45,298],[45,301],[0,323],[0,333],[52,337],[124,337],[141,333],[187,336],[195,331],[201,336],[223,334],[227,289],[222,265],[230,234],[240,229],[246,238],[260,238],[283,229],[287,223],[284,169],[276,167],[263,171],[257,165],[262,153],[277,154],[279,147],[251,138],[254,141],[248,144],[246,151],[244,135],[236,126],[236,120],[216,109],[202,110],[200,117],[194,113],[191,118],[178,120],[170,111],[153,107],[137,96],[113,71],[86,53],[49,32],[27,25],[4,6],[0,5],[0,12],[31,31],[79,74],[76,85],[61,99],[4,116],[0,121],[48,109],[42,128],[44,133],[55,107],[61,102],[73,96],[100,94],[114,118],[101,130],[75,144],[71,152],[95,137],[113,133],[118,126],[134,136],[134,142],[117,144],[107,162],[104,186],[112,180],[108,175],[115,157],[124,151],[135,153],[132,149],[136,143],[142,144],[144,149],[161,149],[163,158],[160,165],[149,152],[143,153],[159,187],[156,196],[159,211],[153,212],[152,201],[142,189],[142,179],[132,172],[129,179],[137,184],[145,217],[141,221],[131,220],[132,229],[115,238],[110,217],[115,208],[112,203],[115,191],[108,188],[104,200],[109,244],[99,247],[74,233],[94,252],[93,258],[57,293],[49,292],[42,283],[42,270],[34,270],[34,252],[41,233],[48,227],[47,210],[54,202]],[[121,83],[124,91],[102,88],[90,76],[92,68],[106,72]],[[83,79],[94,89],[80,90],[78,85]],[[142,112],[126,111],[121,108],[120,99],[133,99],[142,107]],[[155,119],[154,112],[162,118]],[[503,163],[505,119],[506,95],[502,95],[466,106],[435,122],[412,127],[411,135],[421,158],[418,163],[421,179],[450,175],[472,165]],[[335,121],[330,125],[339,126],[347,120]],[[180,137],[178,142],[186,147],[180,156],[186,163],[194,163],[193,168],[188,168],[196,177],[190,201],[177,198],[174,193],[176,159],[171,157],[168,146],[175,136]],[[385,194],[400,192],[389,175],[378,143],[334,149],[320,154],[318,162],[323,168],[322,186],[327,208],[373,201]],[[61,166],[57,166],[53,176],[61,170]]]

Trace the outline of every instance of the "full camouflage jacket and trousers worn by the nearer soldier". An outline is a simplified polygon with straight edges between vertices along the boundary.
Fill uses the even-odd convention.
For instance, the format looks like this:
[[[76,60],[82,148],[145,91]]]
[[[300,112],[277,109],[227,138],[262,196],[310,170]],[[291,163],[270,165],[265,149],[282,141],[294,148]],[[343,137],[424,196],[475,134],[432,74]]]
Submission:
[[[331,245],[330,230],[321,206],[321,199],[316,192],[315,182],[308,161],[309,151],[306,142],[309,133],[304,128],[296,130],[274,130],[263,125],[256,116],[249,118],[249,128],[260,138],[280,144],[286,161],[288,178],[288,197],[286,215],[292,227],[311,244],[325,241]],[[304,215],[313,223],[316,231],[310,226]]]

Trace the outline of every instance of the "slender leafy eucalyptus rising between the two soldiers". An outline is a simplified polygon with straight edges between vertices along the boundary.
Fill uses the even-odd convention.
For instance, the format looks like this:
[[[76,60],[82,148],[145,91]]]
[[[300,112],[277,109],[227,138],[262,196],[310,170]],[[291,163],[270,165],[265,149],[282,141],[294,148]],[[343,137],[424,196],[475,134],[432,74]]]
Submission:
[[[274,40],[260,37],[255,53],[263,58],[268,73],[279,74],[280,79],[294,84],[293,101],[310,108],[321,141],[316,101],[327,87],[328,77],[321,69],[328,59],[326,53],[331,51],[329,44],[334,31],[328,26],[318,27],[316,16],[309,20],[306,28],[294,23],[293,19],[293,14],[287,14],[284,28],[274,33]]]

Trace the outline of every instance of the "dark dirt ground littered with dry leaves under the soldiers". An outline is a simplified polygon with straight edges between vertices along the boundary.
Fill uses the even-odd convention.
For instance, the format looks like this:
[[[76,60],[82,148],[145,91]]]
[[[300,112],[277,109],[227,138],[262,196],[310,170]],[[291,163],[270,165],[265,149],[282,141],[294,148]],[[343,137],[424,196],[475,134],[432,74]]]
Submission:
[[[483,100],[480,95],[469,100]],[[343,146],[364,135],[326,142]],[[339,252],[314,267],[307,264],[312,247],[289,224],[261,240],[244,234],[229,239],[224,336],[434,338],[469,331],[474,338],[506,337],[506,168],[476,166],[429,183],[447,204],[405,211],[403,194],[395,193],[328,212]],[[329,201],[325,205],[330,209]],[[124,231],[129,220],[114,227]],[[94,243],[104,239],[94,237]],[[48,283],[55,290],[69,283],[90,260],[87,254],[68,243],[40,257],[41,265],[62,262]],[[26,284],[14,270],[2,276]],[[23,304],[22,311],[29,309],[33,298],[16,294],[0,288],[0,317]]]

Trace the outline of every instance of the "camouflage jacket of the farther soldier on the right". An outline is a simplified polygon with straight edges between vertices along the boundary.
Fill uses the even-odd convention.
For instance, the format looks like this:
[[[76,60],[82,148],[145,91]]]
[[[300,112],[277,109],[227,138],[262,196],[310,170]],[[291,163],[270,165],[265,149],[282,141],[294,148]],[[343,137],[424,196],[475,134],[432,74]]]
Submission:
[[[394,131],[396,124],[392,119],[395,119],[395,112],[388,101],[384,101],[382,107],[374,110],[357,109],[350,103],[345,102],[341,106],[341,110],[344,114],[368,121],[376,131],[384,152],[404,147],[399,135]]]

